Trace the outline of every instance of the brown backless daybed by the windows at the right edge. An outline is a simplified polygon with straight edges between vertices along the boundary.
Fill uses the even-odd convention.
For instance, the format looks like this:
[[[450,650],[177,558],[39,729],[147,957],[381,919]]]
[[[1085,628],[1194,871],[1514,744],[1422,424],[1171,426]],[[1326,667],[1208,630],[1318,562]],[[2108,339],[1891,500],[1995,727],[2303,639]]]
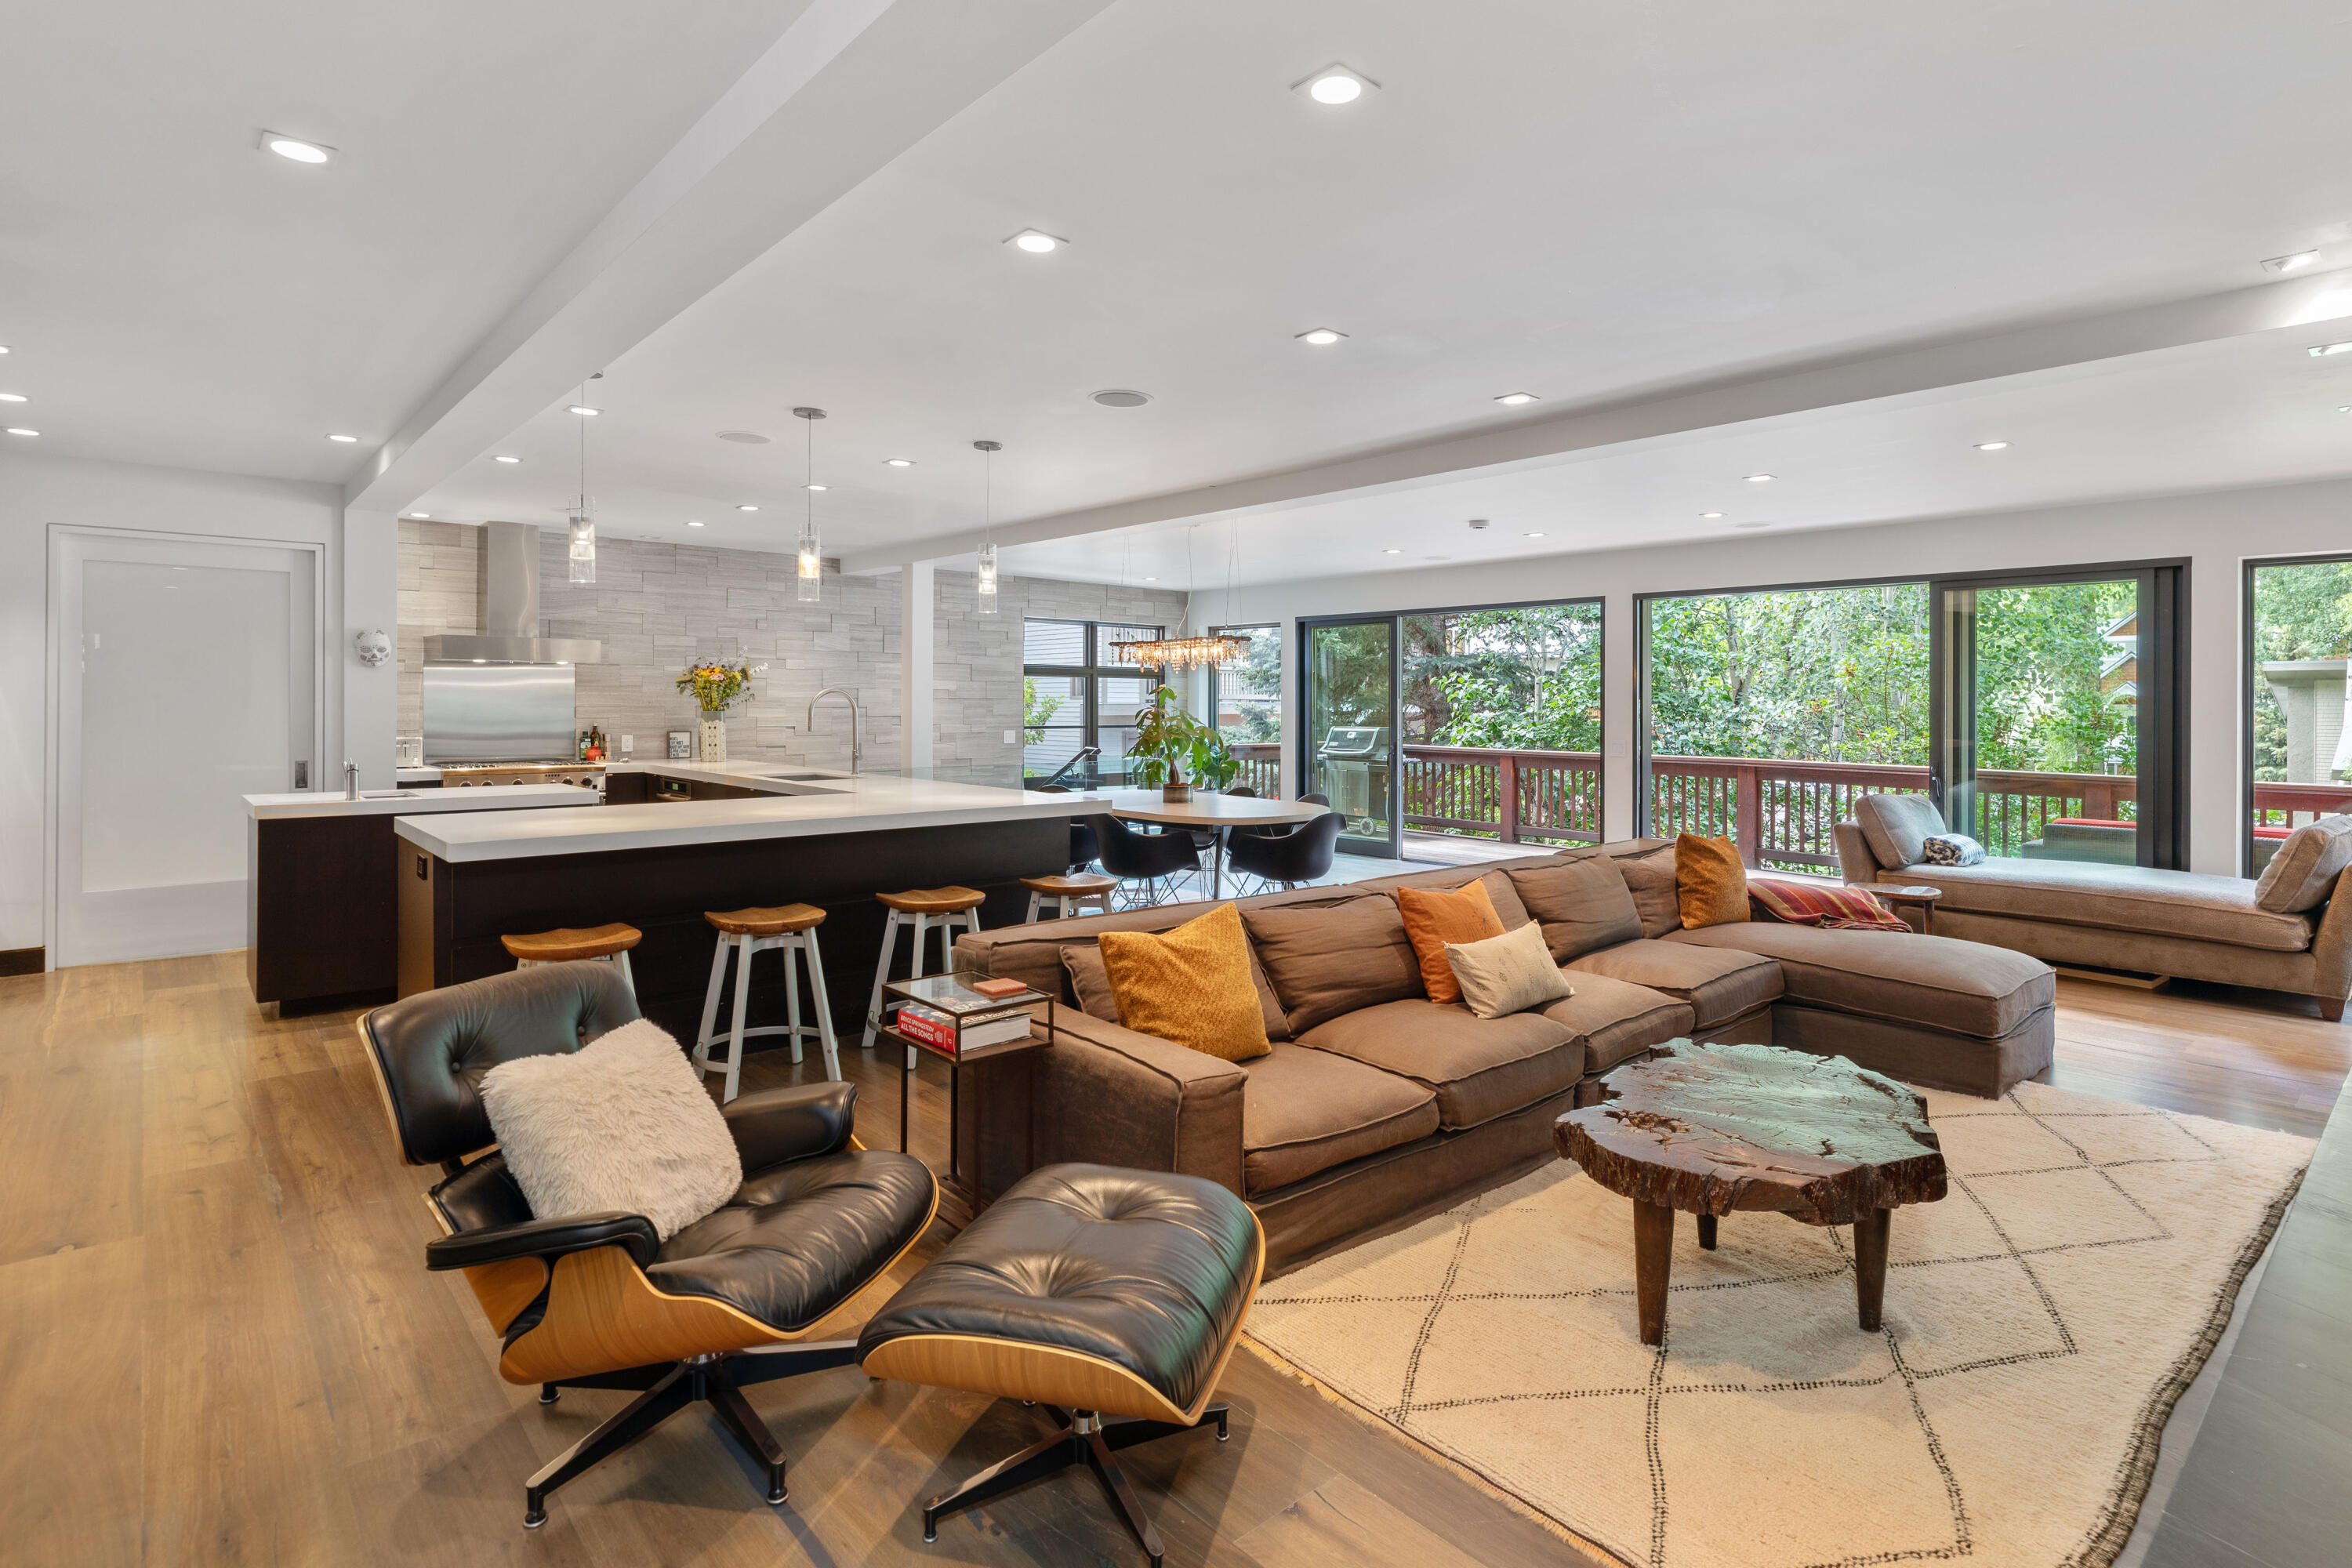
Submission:
[[[2049,964],[2260,985],[2343,1018],[2352,994],[2352,820],[2321,818],[2272,856],[2260,882],[2089,860],[1926,865],[1943,832],[1919,795],[1865,795],[1837,825],[1846,882],[1943,889],[1936,933]]]

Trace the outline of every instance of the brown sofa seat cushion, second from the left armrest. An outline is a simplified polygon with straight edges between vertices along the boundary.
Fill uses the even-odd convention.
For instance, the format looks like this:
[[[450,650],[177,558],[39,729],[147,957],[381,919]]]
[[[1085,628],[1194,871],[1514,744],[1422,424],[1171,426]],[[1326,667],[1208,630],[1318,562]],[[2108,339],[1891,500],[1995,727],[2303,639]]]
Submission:
[[[1585,1072],[1576,1032],[1543,1013],[1472,1018],[1465,1006],[1428,997],[1334,1018],[1298,1044],[1428,1084],[1449,1128],[1508,1117]]]

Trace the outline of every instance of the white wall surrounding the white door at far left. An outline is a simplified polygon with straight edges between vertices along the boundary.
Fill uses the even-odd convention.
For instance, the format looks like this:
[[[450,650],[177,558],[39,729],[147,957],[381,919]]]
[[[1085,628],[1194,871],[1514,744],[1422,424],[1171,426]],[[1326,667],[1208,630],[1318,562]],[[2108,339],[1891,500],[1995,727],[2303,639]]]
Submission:
[[[45,947],[42,860],[47,806],[47,583],[52,527],[143,529],[216,538],[263,538],[327,548],[327,733],[329,766],[346,748],[346,677],[369,726],[381,731],[381,780],[390,778],[393,670],[360,670],[343,628],[346,597],[381,604],[374,625],[393,623],[390,527],[343,550],[343,498],[332,484],[252,475],[80,463],[7,454],[0,458],[0,950]],[[358,578],[358,581],[353,581]],[[381,581],[379,581],[381,578]],[[381,693],[372,682],[381,679]],[[381,708],[381,715],[376,710]],[[360,750],[353,750],[358,757]],[[372,755],[372,752],[369,752]],[[169,769],[169,757],[155,757]],[[374,783],[374,778],[372,778]]]

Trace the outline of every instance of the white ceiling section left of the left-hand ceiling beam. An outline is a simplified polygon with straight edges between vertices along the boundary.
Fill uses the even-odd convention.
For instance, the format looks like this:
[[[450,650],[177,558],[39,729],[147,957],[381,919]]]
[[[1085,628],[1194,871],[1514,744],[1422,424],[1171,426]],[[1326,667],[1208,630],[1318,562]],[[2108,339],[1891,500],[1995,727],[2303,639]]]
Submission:
[[[7,0],[7,423],[348,477],[804,5]]]

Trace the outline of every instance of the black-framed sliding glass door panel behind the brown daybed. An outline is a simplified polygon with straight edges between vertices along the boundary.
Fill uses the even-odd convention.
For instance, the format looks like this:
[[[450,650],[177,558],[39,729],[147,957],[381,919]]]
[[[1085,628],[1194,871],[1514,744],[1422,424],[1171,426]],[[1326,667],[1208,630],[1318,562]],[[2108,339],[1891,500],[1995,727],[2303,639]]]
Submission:
[[[2180,865],[2176,567],[1938,578],[1931,792],[1992,858]]]

